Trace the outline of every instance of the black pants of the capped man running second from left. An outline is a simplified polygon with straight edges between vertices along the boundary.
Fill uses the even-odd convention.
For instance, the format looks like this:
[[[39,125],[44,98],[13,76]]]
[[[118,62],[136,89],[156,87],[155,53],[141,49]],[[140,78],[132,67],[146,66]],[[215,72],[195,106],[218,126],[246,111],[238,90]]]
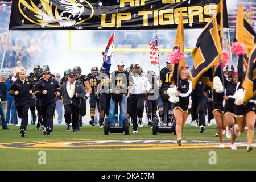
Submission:
[[[44,126],[46,128],[49,127],[51,131],[53,130],[53,114],[55,111],[55,105],[56,103],[54,102],[54,104],[52,103],[42,106],[42,117],[45,123]]]

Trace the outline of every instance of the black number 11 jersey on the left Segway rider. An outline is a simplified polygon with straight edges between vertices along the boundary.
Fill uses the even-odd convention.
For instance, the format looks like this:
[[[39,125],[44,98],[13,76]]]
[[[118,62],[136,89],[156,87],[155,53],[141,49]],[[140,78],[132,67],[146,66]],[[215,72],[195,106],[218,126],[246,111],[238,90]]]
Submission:
[[[114,71],[111,73],[111,90],[112,93],[115,93],[115,91],[118,91],[120,93],[125,93],[127,95],[128,93],[128,87],[133,85],[133,78],[131,77],[131,74],[127,71],[118,72]],[[120,88],[121,85],[125,85],[124,88]]]

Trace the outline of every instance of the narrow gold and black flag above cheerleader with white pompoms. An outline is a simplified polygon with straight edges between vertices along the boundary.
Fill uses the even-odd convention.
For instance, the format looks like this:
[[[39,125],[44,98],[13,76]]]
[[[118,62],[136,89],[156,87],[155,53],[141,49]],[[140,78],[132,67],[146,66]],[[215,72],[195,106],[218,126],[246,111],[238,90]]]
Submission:
[[[183,18],[182,11],[180,11],[179,25],[177,27],[177,35],[174,42],[174,49],[180,49],[184,52],[184,27],[183,27]],[[179,75],[181,67],[185,67],[185,57],[179,60],[178,64],[174,64],[174,67],[171,72],[171,83],[175,85],[175,81],[177,76]],[[177,71],[177,67],[179,66],[179,72]]]

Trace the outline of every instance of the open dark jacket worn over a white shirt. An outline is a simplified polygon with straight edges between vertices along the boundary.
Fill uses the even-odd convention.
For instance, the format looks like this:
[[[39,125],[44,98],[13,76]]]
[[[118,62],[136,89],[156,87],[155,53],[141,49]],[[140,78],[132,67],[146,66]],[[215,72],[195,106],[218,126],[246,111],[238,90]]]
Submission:
[[[60,87],[60,96],[62,96],[63,104],[68,105],[68,104],[73,104],[77,107],[80,107],[81,104],[81,99],[85,97],[85,88],[80,82],[76,81],[75,83],[75,89],[74,89],[74,94],[73,97],[70,98],[66,89],[67,82],[63,82],[63,84]],[[78,96],[76,97],[76,93]],[[60,97],[58,97],[60,98]]]

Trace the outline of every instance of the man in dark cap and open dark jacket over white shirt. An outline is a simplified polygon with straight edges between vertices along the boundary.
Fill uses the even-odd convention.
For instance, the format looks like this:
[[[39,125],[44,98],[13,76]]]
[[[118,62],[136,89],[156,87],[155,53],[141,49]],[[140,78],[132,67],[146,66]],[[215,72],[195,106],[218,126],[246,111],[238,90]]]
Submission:
[[[72,114],[73,133],[77,131],[79,119],[79,109],[81,99],[85,97],[85,88],[80,82],[75,80],[75,73],[69,74],[69,81],[64,82],[60,88],[60,96],[62,96],[65,109],[65,121],[70,126]],[[58,98],[60,102],[60,97]]]

